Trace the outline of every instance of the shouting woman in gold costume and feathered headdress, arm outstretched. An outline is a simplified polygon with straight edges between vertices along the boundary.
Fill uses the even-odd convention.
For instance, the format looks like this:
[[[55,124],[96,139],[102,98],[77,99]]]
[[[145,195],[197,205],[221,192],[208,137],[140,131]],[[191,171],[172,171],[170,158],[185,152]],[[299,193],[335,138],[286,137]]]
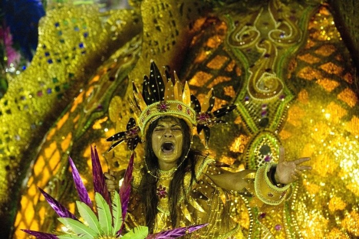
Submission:
[[[134,89],[139,109],[139,128],[145,137],[144,160],[135,165],[131,197],[126,218],[132,228],[146,225],[151,233],[176,227],[204,224],[205,228],[192,233],[192,238],[244,238],[241,227],[228,216],[230,191],[243,192],[263,203],[280,204],[289,184],[303,170],[300,165],[308,157],[286,162],[284,148],[280,148],[277,165],[268,164],[258,170],[229,172],[223,163],[215,162],[202,152],[191,149],[193,127],[209,127],[222,123],[218,117],[234,108],[210,112],[208,102],[198,110],[196,101],[188,102],[188,86],[178,92],[179,84],[164,84],[158,69],[151,64],[151,77],[145,77],[143,95]],[[168,74],[167,74],[168,75]],[[149,84],[148,84],[149,83]],[[164,86],[164,90],[158,88]],[[152,88],[151,88],[152,87]],[[157,88],[156,88],[157,87]],[[170,92],[157,95],[155,92]],[[170,96],[173,96],[172,98]],[[148,99],[146,102],[145,99]],[[214,100],[214,99],[213,99]],[[195,105],[195,111],[191,108]],[[197,107],[197,108],[196,108]],[[212,106],[213,107],[213,106]],[[105,173],[109,191],[117,190],[118,179]],[[223,202],[221,195],[226,195]]]

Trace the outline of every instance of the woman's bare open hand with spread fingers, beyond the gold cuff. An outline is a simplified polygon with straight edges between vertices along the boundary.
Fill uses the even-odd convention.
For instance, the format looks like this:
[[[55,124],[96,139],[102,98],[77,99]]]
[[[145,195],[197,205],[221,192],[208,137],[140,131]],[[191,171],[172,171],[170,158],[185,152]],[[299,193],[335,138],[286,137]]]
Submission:
[[[294,161],[286,161],[284,147],[279,148],[279,161],[274,174],[275,181],[281,184],[293,183],[304,170],[311,170],[312,167],[300,165],[310,160],[310,157],[301,157]]]

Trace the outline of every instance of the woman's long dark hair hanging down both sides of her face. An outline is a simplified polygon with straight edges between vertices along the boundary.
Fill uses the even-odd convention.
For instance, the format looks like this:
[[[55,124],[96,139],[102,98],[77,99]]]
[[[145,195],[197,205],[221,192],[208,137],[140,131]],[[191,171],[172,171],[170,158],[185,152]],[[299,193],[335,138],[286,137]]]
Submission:
[[[149,125],[146,134],[145,161],[148,168],[146,167],[143,168],[143,177],[139,185],[139,190],[143,192],[141,195],[141,201],[144,204],[146,225],[149,228],[150,233],[153,233],[155,218],[157,214],[157,205],[158,205],[158,197],[156,195],[156,184],[158,180],[156,177],[152,176],[151,174],[156,175],[157,169],[159,169],[158,159],[152,150],[152,132],[154,128],[157,126],[157,123],[160,119],[169,118],[169,117],[171,116],[163,116],[157,118]],[[203,155],[203,154],[200,151],[190,149],[191,147],[190,130],[192,129],[189,128],[186,122],[181,118],[175,118],[175,117],[172,118],[174,118],[179,123],[179,125],[181,125],[181,129],[183,133],[182,154],[177,160],[177,165],[181,164],[182,161],[183,163],[179,165],[177,170],[174,172],[168,191],[168,202],[169,202],[171,222],[172,222],[172,227],[175,228],[177,224],[176,206],[180,195],[178,192],[180,190],[185,192],[184,177],[186,171],[190,170],[191,172],[191,184],[193,180],[195,180],[194,167],[196,163],[196,158],[198,155]],[[149,174],[147,170],[149,170],[151,174]]]

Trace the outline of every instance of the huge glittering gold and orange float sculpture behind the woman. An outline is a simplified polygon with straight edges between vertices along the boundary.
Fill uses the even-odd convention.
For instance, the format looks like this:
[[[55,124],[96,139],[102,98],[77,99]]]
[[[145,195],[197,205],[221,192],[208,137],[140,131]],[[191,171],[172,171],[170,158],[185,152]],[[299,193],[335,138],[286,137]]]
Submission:
[[[121,109],[129,108],[131,81],[138,84],[151,58],[169,63],[198,98],[213,87],[216,109],[238,104],[233,123],[211,131],[221,138],[209,145],[218,160],[256,169],[277,161],[280,144],[287,157],[312,158],[311,174],[303,174],[280,206],[251,208],[238,196],[232,217],[250,237],[359,236],[355,72],[326,6],[275,0],[131,4],[133,10],[121,13],[52,10],[41,23],[31,66],[9,81],[0,99],[1,203],[15,208],[9,189],[23,177],[27,185],[18,197],[14,237],[25,237],[21,228],[58,226],[36,187],[64,204],[74,202],[68,154],[89,182],[91,144],[109,169],[125,167],[129,155],[122,146],[105,153],[104,140],[124,129],[131,112]]]

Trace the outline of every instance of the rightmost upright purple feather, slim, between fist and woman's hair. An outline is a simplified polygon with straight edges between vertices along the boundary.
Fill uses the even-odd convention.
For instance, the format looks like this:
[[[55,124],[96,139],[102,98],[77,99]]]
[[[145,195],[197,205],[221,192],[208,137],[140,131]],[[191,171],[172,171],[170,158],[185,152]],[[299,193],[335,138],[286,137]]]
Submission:
[[[119,198],[121,198],[121,207],[122,207],[122,218],[126,218],[128,202],[130,200],[133,158],[134,158],[134,153],[131,154],[130,161],[128,162],[128,166],[125,172],[124,181],[122,183],[121,188],[119,189]],[[123,225],[124,223],[122,223],[122,226]],[[121,233],[121,230],[122,227],[118,231],[118,233]]]

